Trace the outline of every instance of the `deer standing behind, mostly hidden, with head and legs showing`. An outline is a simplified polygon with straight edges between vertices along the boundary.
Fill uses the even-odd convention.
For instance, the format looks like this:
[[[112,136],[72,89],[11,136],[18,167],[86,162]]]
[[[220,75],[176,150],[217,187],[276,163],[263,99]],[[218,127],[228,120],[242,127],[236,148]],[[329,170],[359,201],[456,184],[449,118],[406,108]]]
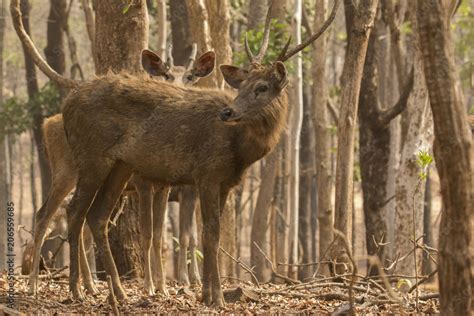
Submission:
[[[150,50],[142,52],[142,64],[144,69],[151,75],[163,77],[166,81],[171,83],[182,83],[185,85],[194,84],[200,78],[209,75],[214,68],[215,53],[207,52],[202,54],[196,61],[196,45],[193,45],[193,51],[190,56],[190,63],[188,67],[175,66],[171,57],[164,63],[161,58]],[[168,52],[171,56],[171,47]],[[52,185],[48,198],[36,214],[35,235],[34,235],[34,250],[32,258],[32,267],[29,278],[29,293],[36,293],[37,280],[39,273],[40,250],[47,235],[47,229],[51,223],[51,219],[56,213],[59,204],[64,200],[65,196],[71,192],[77,183],[77,168],[72,156],[71,150],[66,140],[64,133],[64,125],[62,114],[57,114],[45,120],[43,124],[43,138],[45,150],[48,153],[48,160],[52,172]],[[151,276],[150,263],[150,245],[152,239],[152,186],[148,181],[135,177],[131,181],[131,185],[136,188],[139,194],[140,218],[142,228],[142,244],[144,250],[145,262],[145,291],[149,295],[154,294],[153,278]],[[188,245],[191,246],[191,258],[193,265],[190,267],[191,278],[199,282],[199,272],[197,269],[197,260],[195,258],[196,240],[191,234],[192,219],[194,215],[194,204],[196,197],[190,196],[195,191],[192,187],[183,187],[178,194],[183,196],[180,207],[180,218],[183,218],[180,223],[180,240],[183,240],[183,251],[186,253]],[[155,213],[162,213],[161,210],[156,210]],[[191,220],[189,220],[191,219]],[[189,226],[189,227],[188,227]],[[184,242],[187,241],[187,242]],[[189,242],[191,241],[191,242]],[[157,241],[154,241],[155,244]],[[161,249],[161,245],[155,245],[156,249]],[[84,285],[91,293],[96,293],[88,265],[85,264],[84,251],[80,252],[81,260],[81,275],[83,277]],[[193,258],[194,256],[194,258]],[[182,261],[183,258],[180,257]],[[186,260],[186,257],[184,258]],[[161,261],[158,261],[161,263]],[[186,261],[185,261],[186,262]],[[182,264],[180,263],[182,266]],[[181,271],[180,276],[184,282],[188,281],[187,266],[184,265],[185,270]],[[160,273],[162,269],[158,269]],[[162,275],[158,276],[159,280],[164,279]],[[163,283],[164,284],[164,283]],[[164,285],[159,286],[161,292],[164,292]]]

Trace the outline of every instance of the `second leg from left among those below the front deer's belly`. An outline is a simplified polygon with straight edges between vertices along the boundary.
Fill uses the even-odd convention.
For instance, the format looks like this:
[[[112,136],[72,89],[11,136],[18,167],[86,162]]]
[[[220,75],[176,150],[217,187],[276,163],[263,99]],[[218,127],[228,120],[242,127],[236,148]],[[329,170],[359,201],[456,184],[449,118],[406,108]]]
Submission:
[[[153,247],[155,248],[156,263],[158,265],[158,280],[155,281],[158,292],[164,295],[168,295],[168,292],[166,290],[166,276],[163,271],[162,242],[169,192],[169,186],[155,185],[155,195],[153,197]]]

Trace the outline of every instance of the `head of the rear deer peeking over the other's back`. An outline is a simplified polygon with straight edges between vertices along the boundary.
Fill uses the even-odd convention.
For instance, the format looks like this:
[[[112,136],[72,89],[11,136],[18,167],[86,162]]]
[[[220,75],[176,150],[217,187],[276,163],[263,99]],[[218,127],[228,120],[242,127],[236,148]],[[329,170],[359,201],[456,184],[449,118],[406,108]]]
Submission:
[[[167,61],[164,62],[155,52],[144,49],[141,55],[143,69],[152,76],[163,77],[168,82],[184,85],[192,85],[199,79],[207,77],[214,70],[216,53],[212,51],[202,54],[196,60],[197,47],[196,44],[193,44],[193,50],[186,67],[174,65],[171,51],[172,46],[170,45]]]

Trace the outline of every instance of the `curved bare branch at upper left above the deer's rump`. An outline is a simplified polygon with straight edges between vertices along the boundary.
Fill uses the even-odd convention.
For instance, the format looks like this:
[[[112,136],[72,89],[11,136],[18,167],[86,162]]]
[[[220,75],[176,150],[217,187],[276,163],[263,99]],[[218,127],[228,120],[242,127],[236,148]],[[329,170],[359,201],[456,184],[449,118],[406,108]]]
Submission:
[[[31,55],[31,58],[33,58],[39,69],[41,69],[41,71],[44,72],[44,74],[48,76],[49,79],[57,82],[59,85],[62,85],[66,88],[77,87],[80,83],[79,81],[72,80],[58,74],[53,68],[51,68],[51,66],[48,65],[48,63],[36,49],[35,44],[31,40],[28,33],[26,33],[25,27],[23,26],[23,21],[21,20],[20,0],[11,1],[10,12],[12,15],[13,26],[15,27],[18,37],[20,38],[23,45],[25,45],[25,47],[28,49],[28,53]]]

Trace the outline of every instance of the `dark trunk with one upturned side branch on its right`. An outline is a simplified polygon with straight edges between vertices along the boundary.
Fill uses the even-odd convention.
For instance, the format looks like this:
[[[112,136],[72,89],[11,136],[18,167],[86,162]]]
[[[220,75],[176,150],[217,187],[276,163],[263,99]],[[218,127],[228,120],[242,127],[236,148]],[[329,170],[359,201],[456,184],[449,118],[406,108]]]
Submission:
[[[386,242],[387,224],[385,218],[385,201],[387,197],[387,180],[390,160],[391,130],[390,122],[405,108],[408,96],[413,87],[413,79],[404,83],[400,100],[391,108],[381,109],[378,86],[378,60],[376,52],[380,50],[381,26],[379,18],[375,29],[370,34],[369,45],[364,64],[364,76],[359,98],[359,154],[362,176],[363,209],[366,230],[367,255],[379,256],[385,262],[387,250],[382,244]],[[411,80],[410,80],[411,79]],[[390,114],[390,115],[389,115]],[[376,267],[369,267],[370,275],[378,274]]]

